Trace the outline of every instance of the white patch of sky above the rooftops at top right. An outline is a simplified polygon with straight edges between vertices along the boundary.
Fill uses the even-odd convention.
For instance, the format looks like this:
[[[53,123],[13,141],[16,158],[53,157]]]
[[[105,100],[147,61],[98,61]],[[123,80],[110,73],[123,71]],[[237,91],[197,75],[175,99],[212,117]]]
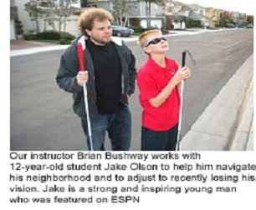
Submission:
[[[218,9],[225,9],[227,11],[246,13],[253,15],[253,0],[177,0],[182,3],[197,3],[202,7],[214,7]]]

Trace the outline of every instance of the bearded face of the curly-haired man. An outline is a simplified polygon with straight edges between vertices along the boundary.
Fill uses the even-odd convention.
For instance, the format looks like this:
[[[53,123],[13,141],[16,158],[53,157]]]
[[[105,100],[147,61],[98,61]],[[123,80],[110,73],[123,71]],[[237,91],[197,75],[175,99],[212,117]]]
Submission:
[[[96,45],[105,45],[111,41],[112,29],[109,20],[99,22],[95,19],[91,31],[85,29],[92,42]]]

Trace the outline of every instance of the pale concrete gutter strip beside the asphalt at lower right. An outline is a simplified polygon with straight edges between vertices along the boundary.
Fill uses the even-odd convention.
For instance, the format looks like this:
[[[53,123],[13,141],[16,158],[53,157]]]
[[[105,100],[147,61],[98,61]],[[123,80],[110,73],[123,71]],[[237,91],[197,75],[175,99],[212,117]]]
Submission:
[[[190,131],[182,138],[182,151],[227,150],[234,128],[238,123],[238,113],[248,90],[248,83],[253,77],[252,69],[253,55],[238,68],[238,71],[198,117]]]

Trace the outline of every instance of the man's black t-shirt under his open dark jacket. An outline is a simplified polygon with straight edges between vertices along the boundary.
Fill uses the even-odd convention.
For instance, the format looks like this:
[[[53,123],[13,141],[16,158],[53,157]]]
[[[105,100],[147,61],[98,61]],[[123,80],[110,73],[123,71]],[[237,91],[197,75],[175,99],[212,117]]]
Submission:
[[[120,107],[121,65],[115,44],[95,45],[90,38],[87,47],[95,66],[97,107],[100,114],[115,113]]]

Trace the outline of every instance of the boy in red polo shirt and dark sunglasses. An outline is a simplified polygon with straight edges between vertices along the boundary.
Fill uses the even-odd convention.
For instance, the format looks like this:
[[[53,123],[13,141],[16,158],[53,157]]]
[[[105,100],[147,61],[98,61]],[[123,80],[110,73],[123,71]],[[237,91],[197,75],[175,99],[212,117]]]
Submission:
[[[143,32],[138,44],[149,56],[137,75],[143,107],[142,151],[174,151],[179,120],[179,86],[191,76],[188,67],[178,67],[166,57],[168,42],[161,31]]]

